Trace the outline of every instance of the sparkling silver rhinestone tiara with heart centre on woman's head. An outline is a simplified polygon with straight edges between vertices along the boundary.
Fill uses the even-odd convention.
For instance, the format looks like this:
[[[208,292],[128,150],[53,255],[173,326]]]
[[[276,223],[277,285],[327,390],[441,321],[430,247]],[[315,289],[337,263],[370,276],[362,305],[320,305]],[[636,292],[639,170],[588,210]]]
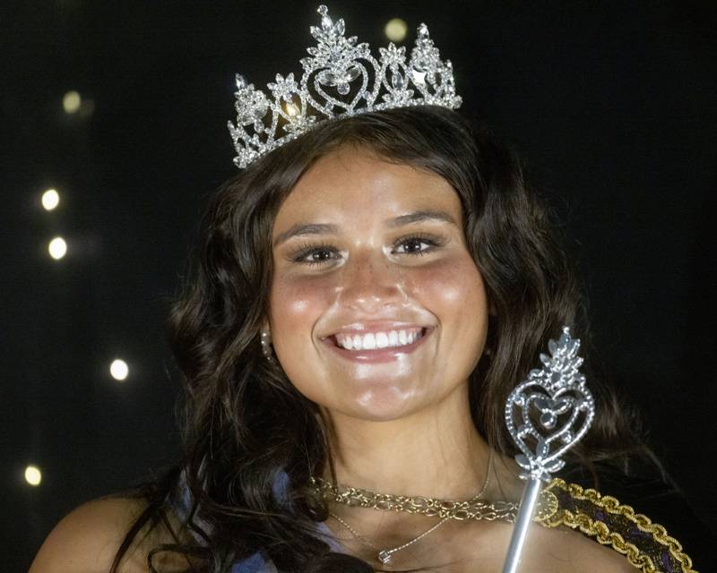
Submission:
[[[317,12],[321,28],[310,28],[317,45],[307,48],[311,57],[300,60],[304,68],[300,82],[294,80],[293,73],[286,78],[277,73],[276,81],[266,85],[272,101],[237,74],[237,124],[229,122],[229,133],[239,169],[327,119],[394,107],[461,107],[462,98],[455,95],[453,65],[450,60],[441,61],[426,24],[418,27],[408,62],[406,47],[396,47],[393,42],[379,48],[381,56],[376,60],[368,44],[357,45],[356,36],[344,37],[342,18],[334,22],[323,4]],[[371,67],[374,78],[369,85]],[[358,91],[350,96],[352,83]],[[309,91],[309,86],[314,90]],[[384,93],[377,100],[382,88]]]

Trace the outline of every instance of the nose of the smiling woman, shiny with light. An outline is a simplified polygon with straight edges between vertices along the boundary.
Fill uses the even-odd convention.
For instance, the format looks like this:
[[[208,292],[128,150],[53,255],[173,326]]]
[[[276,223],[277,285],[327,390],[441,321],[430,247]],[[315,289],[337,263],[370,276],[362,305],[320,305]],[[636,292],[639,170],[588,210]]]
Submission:
[[[381,312],[405,298],[402,271],[381,252],[355,254],[344,265],[339,302],[358,312]]]

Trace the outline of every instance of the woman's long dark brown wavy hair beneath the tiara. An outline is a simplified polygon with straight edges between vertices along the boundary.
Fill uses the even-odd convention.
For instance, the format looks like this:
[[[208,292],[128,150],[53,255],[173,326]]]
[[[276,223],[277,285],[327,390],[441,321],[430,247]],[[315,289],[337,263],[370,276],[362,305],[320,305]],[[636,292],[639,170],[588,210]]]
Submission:
[[[505,398],[536,365],[549,338],[569,325],[590,354],[583,286],[563,247],[554,216],[523,179],[523,165],[487,129],[443,107],[373,112],[318,124],[259,158],[223,184],[203,220],[193,272],[173,304],[168,338],[185,392],[180,425],[183,457],[160,478],[136,488],[146,500],[120,546],[110,573],[143,528],[168,525],[170,500],[191,492],[182,522],[197,543],[155,547],[192,557],[192,569],[223,573],[256,552],[291,573],[370,572],[363,560],[331,552],[317,538],[328,517],[308,487],[310,475],[333,473],[329,429],[318,406],[291,384],[281,365],[263,358],[259,330],[272,282],[272,225],[299,177],[343,145],[373,150],[387,161],[441,175],[460,197],[464,233],[496,316],[470,378],[473,423],[491,448],[513,456],[505,430]],[[589,368],[597,399],[591,432],[570,453],[574,466],[600,462],[625,469],[647,451],[625,409]],[[285,499],[273,485],[289,480]],[[181,479],[180,479],[181,478]],[[335,479],[335,475],[334,475]],[[190,561],[190,560],[188,560]]]

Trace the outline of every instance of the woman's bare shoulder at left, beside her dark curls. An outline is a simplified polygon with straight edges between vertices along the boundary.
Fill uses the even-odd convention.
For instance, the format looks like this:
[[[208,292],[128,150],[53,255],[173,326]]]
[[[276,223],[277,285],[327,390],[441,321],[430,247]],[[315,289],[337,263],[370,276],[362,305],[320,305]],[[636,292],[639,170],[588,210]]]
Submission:
[[[147,504],[144,500],[104,497],[83,503],[63,517],[39,549],[29,573],[108,573],[117,550]],[[172,526],[176,517],[168,516]],[[177,530],[177,527],[174,527]],[[148,571],[147,554],[159,543],[172,543],[166,527],[143,530],[135,536],[117,573]],[[176,543],[176,542],[175,542]],[[154,565],[169,564],[156,559]]]

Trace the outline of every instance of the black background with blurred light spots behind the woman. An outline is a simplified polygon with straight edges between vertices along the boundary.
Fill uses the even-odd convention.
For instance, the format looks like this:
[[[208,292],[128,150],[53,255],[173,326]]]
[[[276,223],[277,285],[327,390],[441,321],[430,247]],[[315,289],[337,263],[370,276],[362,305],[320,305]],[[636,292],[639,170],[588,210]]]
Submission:
[[[258,88],[300,75],[317,4],[0,5],[4,571],[26,570],[70,509],[177,455],[163,321],[207,196],[236,173],[234,73]],[[328,5],[376,56],[389,19],[408,22],[408,47],[428,24],[462,112],[515,143],[566,226],[591,299],[589,359],[717,526],[713,3]],[[68,90],[80,113],[63,111]],[[50,212],[48,187],[62,201]],[[47,254],[57,234],[62,261]]]

